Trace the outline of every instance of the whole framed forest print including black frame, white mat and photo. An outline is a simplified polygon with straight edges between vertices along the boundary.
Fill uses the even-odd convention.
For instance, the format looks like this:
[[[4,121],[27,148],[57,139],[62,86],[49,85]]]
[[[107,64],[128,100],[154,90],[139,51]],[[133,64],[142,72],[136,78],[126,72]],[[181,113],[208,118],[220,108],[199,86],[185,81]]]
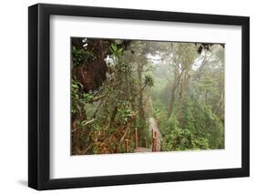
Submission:
[[[28,185],[250,174],[250,19],[28,8]]]

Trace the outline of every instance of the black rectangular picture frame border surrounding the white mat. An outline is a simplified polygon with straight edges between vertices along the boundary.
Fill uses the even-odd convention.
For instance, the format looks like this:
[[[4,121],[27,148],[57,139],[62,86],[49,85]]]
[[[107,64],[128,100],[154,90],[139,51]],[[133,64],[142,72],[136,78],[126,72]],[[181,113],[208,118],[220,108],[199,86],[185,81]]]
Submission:
[[[49,18],[50,15],[166,21],[241,26],[242,124],[241,168],[206,169],[118,176],[50,179]],[[69,189],[179,180],[223,179],[250,176],[250,18],[177,12],[37,4],[28,8],[28,186],[34,189]]]

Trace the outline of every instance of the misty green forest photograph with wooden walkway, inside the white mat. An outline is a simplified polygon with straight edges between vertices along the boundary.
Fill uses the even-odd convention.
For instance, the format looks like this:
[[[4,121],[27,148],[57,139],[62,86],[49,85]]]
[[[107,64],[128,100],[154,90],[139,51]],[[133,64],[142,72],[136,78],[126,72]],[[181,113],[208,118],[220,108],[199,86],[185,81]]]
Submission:
[[[225,44],[70,38],[71,155],[225,148]]]

